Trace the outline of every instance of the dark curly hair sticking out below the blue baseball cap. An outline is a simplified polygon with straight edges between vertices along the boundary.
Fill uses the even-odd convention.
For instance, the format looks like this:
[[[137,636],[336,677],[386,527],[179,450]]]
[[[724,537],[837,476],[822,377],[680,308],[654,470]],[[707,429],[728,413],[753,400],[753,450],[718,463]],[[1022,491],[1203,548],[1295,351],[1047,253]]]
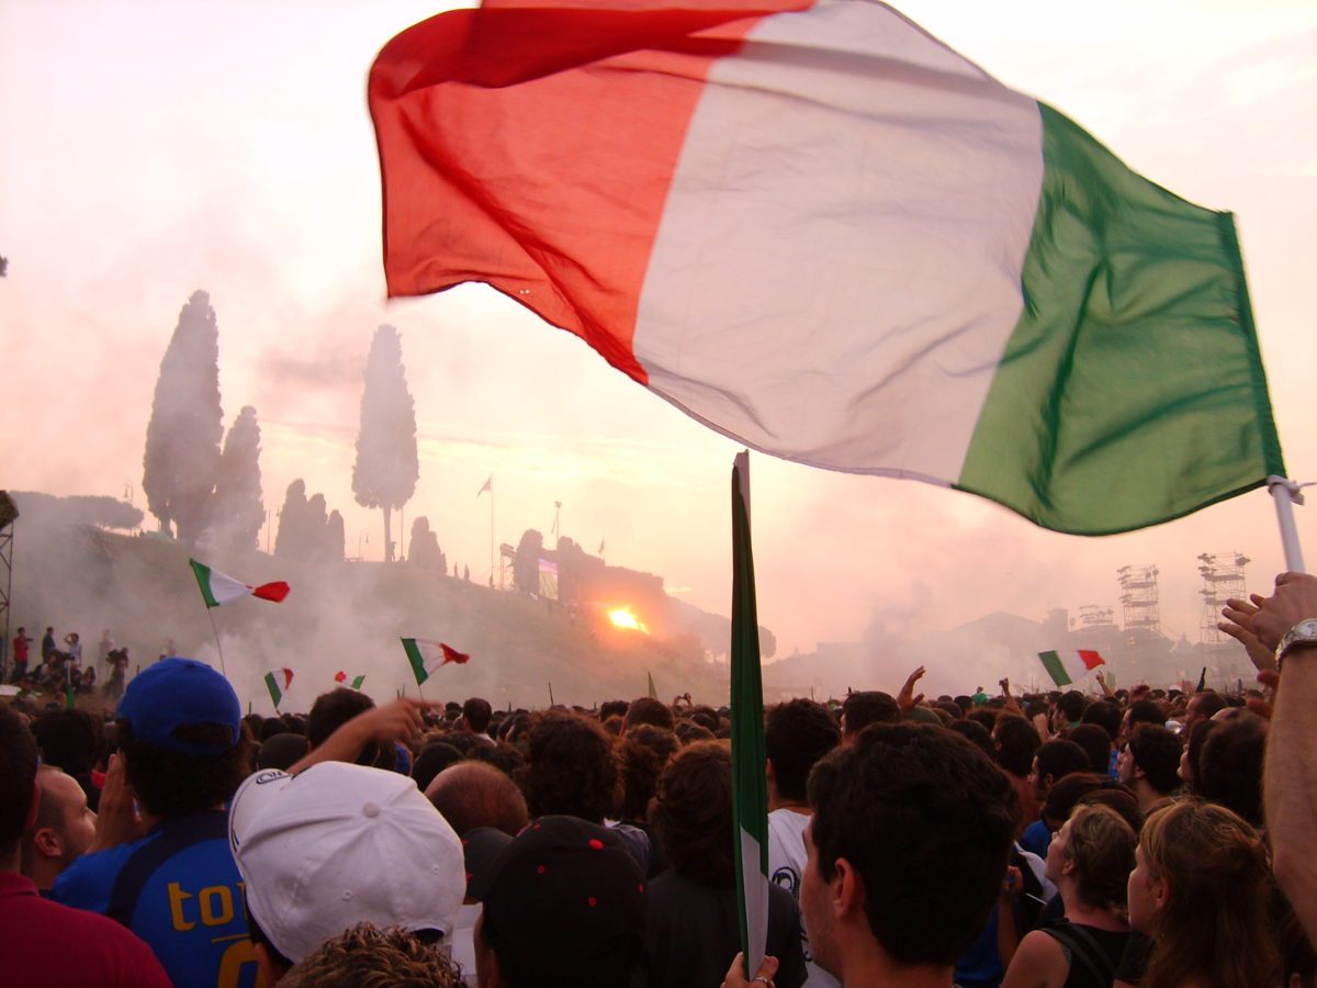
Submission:
[[[196,744],[228,742],[232,732],[223,725],[192,725],[175,734]],[[238,785],[252,772],[250,742],[240,740],[223,755],[184,755],[133,736],[126,721],[119,722],[119,743],[124,771],[138,802],[154,817],[187,817],[233,798]]]

